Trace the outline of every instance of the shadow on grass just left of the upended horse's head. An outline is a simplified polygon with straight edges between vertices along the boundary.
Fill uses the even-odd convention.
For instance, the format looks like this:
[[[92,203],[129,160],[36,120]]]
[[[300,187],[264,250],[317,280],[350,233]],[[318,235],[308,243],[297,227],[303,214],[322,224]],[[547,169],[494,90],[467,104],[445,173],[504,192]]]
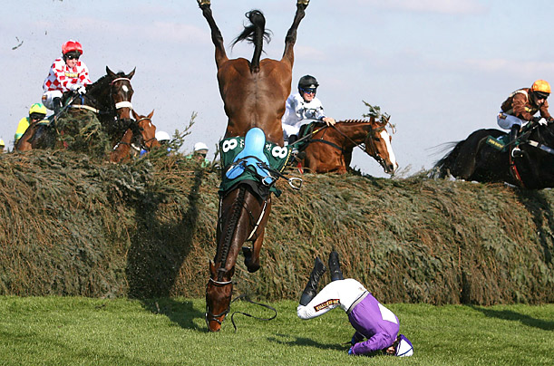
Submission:
[[[190,301],[179,302],[171,298],[148,299],[141,301],[144,308],[151,313],[165,315],[171,322],[178,324],[181,328],[198,332],[208,332],[203,326],[204,313],[196,310]],[[196,322],[201,320],[202,325]]]

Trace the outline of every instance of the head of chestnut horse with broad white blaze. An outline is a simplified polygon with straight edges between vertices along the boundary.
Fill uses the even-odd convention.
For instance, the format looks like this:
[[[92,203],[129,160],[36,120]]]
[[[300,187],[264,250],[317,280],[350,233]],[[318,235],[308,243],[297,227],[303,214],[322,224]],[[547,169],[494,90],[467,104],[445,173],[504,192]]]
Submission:
[[[375,120],[372,116],[370,122],[371,128],[364,140],[365,152],[381,164],[385,173],[394,174],[398,163],[391,145],[393,138],[386,130],[389,119]]]

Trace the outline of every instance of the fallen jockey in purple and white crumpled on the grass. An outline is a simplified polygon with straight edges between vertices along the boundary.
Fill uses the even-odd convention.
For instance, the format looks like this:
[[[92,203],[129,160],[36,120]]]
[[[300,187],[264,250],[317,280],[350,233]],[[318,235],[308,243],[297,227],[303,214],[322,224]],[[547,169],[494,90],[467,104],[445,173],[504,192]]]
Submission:
[[[296,308],[298,317],[313,319],[341,307],[355,328],[348,354],[412,356],[412,342],[399,333],[398,317],[379,303],[363,284],[343,277],[335,251],[329,255],[329,269],[331,283],[316,294],[319,279],[326,272],[326,266],[316,258],[316,265]]]

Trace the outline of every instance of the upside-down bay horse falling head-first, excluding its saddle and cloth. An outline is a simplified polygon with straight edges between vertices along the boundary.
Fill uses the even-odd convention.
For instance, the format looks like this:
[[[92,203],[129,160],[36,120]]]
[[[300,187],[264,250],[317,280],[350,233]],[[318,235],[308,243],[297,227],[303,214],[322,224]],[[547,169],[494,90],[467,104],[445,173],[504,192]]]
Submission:
[[[269,35],[265,28],[266,19],[258,10],[246,14],[251,24],[245,26],[235,40],[235,43],[243,40],[254,43],[252,60],[229,60],[223,37],[211,12],[210,1],[197,1],[209,24],[215,46],[219,93],[228,117],[225,137],[246,136],[249,130],[258,128],[265,133],[267,142],[283,147],[281,117],[292,83],[296,30],[305,16],[309,0],[296,2],[296,14],[288,29],[285,51],[280,61],[260,61],[263,41],[269,41]],[[271,196],[258,194],[258,188],[263,186],[261,182],[254,186],[243,182],[226,192],[220,192],[218,248],[214,260],[209,262],[209,281],[206,285],[205,318],[211,332],[219,331],[221,322],[229,312],[233,290],[231,278],[235,273],[238,252],[246,241],[253,242],[252,248],[242,247],[248,272],[256,272],[260,267],[259,251],[271,210]]]

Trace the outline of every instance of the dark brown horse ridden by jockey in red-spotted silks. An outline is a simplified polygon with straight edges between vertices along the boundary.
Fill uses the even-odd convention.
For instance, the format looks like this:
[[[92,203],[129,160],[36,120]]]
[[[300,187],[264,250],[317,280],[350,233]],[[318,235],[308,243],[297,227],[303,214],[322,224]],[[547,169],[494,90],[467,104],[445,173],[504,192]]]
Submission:
[[[63,94],[63,111],[92,111],[96,113],[103,130],[108,133],[112,145],[121,139],[122,133],[131,124],[131,78],[134,70],[129,74],[112,72],[106,66],[107,74],[97,82],[86,86],[86,93],[80,95],[75,92]],[[57,116],[53,116],[56,120]],[[56,130],[53,123],[39,122],[29,126],[19,139],[15,149],[27,151],[30,149],[52,148],[56,140]]]

